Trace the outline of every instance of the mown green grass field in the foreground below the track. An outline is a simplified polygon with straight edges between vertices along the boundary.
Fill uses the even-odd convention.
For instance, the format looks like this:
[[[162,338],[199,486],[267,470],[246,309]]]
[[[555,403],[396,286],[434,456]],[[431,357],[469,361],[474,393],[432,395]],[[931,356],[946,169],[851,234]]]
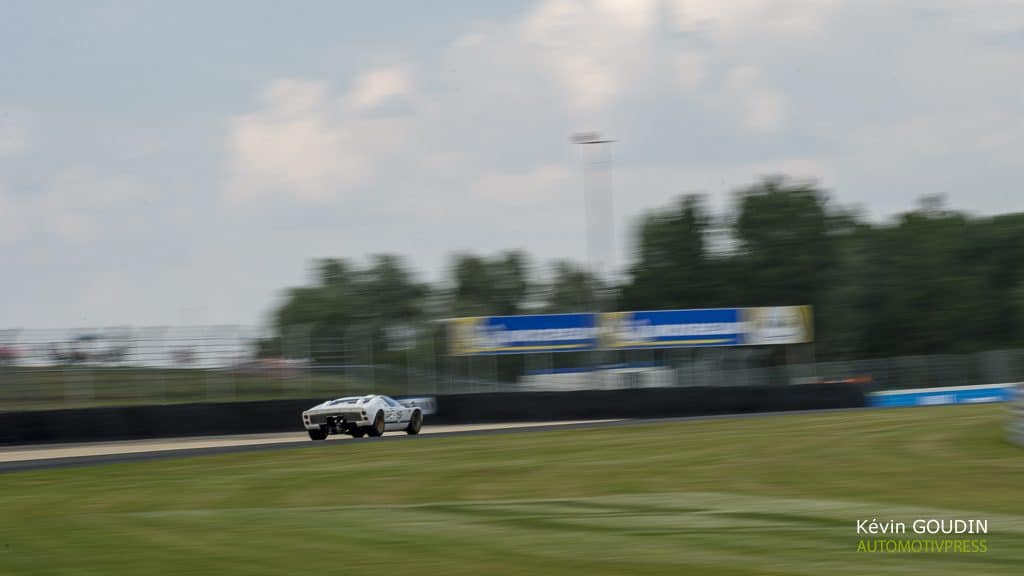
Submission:
[[[1022,574],[1006,420],[795,414],[8,474],[0,574]],[[872,518],[986,519],[988,551],[857,552]]]

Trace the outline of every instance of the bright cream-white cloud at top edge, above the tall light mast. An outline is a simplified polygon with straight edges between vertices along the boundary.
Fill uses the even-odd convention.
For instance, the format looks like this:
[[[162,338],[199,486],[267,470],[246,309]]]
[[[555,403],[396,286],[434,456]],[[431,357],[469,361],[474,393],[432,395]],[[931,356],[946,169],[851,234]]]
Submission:
[[[663,95],[666,86],[720,108],[716,92],[735,88],[709,82],[713,64],[734,66],[737,48],[751,43],[820,41],[815,35],[839,6],[839,0],[546,0],[515,25],[516,53],[545,70],[569,114],[584,121]],[[659,23],[663,14],[668,27]],[[780,129],[784,94],[763,79],[752,88],[732,100],[744,126]]]

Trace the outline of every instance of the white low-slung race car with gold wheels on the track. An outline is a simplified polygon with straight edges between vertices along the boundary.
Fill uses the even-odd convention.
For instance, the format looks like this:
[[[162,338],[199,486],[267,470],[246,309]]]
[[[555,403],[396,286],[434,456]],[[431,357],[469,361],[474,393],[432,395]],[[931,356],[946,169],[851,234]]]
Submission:
[[[398,402],[389,396],[350,396],[329,400],[302,413],[302,425],[311,440],[333,434],[352,438],[381,436],[385,431],[420,434],[423,409],[415,401]]]

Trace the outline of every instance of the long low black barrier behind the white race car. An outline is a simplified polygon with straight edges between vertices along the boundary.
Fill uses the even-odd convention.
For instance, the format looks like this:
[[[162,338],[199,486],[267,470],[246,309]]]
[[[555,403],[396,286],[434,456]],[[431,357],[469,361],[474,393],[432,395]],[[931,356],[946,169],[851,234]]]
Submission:
[[[302,431],[300,413],[324,399],[126,406],[0,413],[0,444]],[[707,386],[435,397],[430,423],[650,418],[865,405],[853,384]]]

